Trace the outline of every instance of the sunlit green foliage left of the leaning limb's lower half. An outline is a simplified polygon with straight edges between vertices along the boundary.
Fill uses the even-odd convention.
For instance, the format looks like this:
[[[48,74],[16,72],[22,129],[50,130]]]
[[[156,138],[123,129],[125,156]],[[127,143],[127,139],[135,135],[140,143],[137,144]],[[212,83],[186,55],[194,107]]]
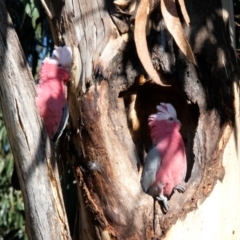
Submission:
[[[11,187],[13,156],[0,113],[0,240],[27,239],[21,192]]]

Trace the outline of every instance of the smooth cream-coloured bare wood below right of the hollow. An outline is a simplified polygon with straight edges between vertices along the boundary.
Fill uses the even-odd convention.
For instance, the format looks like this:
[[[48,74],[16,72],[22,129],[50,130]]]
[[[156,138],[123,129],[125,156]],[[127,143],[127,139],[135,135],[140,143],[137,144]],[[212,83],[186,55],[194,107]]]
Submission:
[[[223,154],[225,176],[198,209],[179,219],[165,239],[240,239],[240,112],[239,88],[235,86],[236,126]]]

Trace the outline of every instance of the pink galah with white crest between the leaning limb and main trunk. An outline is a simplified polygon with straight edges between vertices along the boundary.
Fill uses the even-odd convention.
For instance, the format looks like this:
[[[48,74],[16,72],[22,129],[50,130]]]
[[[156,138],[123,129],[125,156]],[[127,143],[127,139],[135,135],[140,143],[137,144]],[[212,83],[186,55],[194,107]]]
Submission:
[[[36,104],[47,133],[54,142],[61,136],[69,116],[65,94],[71,64],[71,49],[58,47],[53,51],[53,57],[44,59],[36,85]]]

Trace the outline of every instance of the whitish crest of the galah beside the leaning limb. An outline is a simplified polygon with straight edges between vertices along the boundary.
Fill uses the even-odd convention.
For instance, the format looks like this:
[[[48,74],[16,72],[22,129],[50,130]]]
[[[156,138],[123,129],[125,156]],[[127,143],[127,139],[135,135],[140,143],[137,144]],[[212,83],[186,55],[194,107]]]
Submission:
[[[70,47],[58,47],[53,51],[54,57],[63,67],[70,67],[72,64],[72,50]]]

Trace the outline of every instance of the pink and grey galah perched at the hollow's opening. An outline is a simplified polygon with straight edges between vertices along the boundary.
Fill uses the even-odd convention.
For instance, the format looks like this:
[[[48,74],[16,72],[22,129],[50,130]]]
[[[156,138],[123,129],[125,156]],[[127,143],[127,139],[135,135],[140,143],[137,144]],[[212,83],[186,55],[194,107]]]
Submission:
[[[143,190],[163,203],[167,212],[168,197],[176,189],[184,192],[182,185],[187,171],[186,153],[181,123],[170,103],[160,103],[157,113],[148,118],[153,147],[147,154],[141,176]]]

